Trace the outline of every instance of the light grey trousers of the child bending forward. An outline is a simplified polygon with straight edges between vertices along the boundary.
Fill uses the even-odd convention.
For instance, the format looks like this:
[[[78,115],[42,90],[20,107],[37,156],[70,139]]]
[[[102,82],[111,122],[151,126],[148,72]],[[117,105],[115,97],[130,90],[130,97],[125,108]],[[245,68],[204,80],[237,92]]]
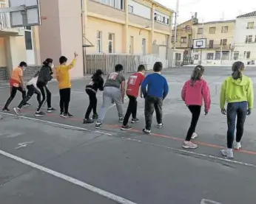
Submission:
[[[103,91],[103,102],[101,105],[101,110],[98,114],[98,123],[103,122],[105,115],[107,113],[107,109],[110,107],[112,101],[115,102],[119,118],[123,117],[123,102],[120,88],[107,86],[104,88]]]

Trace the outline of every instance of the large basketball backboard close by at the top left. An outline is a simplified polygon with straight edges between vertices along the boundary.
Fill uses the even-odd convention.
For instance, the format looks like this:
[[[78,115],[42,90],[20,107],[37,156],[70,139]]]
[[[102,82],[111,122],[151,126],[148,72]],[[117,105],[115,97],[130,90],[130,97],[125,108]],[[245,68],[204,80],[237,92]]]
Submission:
[[[9,0],[9,7],[24,6],[25,10],[11,11],[11,27],[29,27],[41,25],[39,0]]]

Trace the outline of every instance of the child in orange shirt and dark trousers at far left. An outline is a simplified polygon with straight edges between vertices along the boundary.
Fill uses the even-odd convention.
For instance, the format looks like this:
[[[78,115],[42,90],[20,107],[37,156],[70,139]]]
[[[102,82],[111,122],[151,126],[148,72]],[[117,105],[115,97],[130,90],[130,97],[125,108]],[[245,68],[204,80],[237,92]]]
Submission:
[[[14,68],[12,75],[10,77],[10,97],[7,99],[7,102],[4,105],[3,111],[10,112],[8,106],[10,102],[13,101],[16,96],[17,91],[20,91],[22,94],[22,99],[26,97],[26,91],[24,90],[24,80],[23,80],[23,71],[27,67],[27,63],[21,62],[17,68]],[[26,104],[29,105],[29,104]]]

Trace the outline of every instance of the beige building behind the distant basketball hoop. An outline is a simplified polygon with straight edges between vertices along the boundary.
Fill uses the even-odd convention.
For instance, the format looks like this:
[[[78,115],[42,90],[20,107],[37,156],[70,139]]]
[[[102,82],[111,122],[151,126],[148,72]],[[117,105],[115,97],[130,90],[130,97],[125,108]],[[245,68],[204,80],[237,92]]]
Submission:
[[[220,64],[230,63],[232,59],[232,41],[235,33],[235,20],[212,21],[192,26],[192,38],[206,38],[206,49],[194,49],[194,63]]]

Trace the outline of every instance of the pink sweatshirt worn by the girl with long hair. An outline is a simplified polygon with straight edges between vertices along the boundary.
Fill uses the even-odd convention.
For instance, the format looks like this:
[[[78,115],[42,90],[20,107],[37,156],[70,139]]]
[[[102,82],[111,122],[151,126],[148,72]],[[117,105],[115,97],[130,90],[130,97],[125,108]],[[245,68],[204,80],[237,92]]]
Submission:
[[[181,98],[186,105],[203,105],[205,111],[209,112],[211,106],[211,96],[209,86],[205,80],[197,80],[191,85],[191,80],[187,80],[181,91]]]

